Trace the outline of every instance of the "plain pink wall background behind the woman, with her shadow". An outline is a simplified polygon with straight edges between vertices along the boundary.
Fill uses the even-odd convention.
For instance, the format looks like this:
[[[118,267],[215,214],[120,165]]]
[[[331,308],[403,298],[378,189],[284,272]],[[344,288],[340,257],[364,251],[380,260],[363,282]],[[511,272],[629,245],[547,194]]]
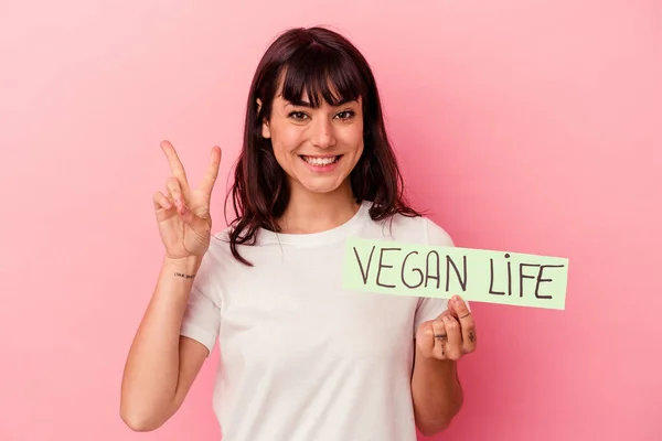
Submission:
[[[0,4],[0,440],[217,439],[217,354],[159,431],[118,413],[162,249],[159,142],[194,183],[224,149],[222,228],[257,61],[311,24],[370,60],[409,194],[458,245],[570,259],[565,311],[473,305],[438,439],[662,439],[659,2],[36,3]]]

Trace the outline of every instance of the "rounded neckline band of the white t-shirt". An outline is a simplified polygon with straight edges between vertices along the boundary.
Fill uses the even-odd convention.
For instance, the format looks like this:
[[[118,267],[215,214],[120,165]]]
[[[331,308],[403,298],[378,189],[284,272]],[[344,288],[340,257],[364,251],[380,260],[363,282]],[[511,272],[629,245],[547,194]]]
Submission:
[[[287,244],[287,245],[323,245],[331,244],[338,240],[346,239],[350,234],[355,230],[363,220],[367,217],[369,209],[372,203],[362,201],[359,209],[344,224],[341,224],[331,229],[310,234],[287,234],[275,233],[266,228],[259,228],[257,234],[257,244]]]

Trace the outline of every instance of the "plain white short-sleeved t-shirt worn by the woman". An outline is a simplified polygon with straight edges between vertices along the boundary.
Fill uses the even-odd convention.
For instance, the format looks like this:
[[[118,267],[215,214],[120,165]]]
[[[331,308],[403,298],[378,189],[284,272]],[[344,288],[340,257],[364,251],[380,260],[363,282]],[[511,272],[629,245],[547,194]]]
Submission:
[[[452,246],[426,217],[373,222],[364,202],[317,234],[260,230],[235,260],[227,229],[212,237],[181,334],[221,359],[213,408],[224,441],[415,441],[412,404],[418,325],[442,299],[342,289],[350,237]]]

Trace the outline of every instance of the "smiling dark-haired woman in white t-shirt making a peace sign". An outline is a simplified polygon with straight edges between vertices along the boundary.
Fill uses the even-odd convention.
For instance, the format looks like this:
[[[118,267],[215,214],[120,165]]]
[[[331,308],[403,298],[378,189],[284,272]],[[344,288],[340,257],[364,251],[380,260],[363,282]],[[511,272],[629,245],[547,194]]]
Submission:
[[[162,149],[172,176],[153,204],[166,252],[121,385],[131,429],[179,409],[216,340],[224,441],[407,441],[450,423],[456,363],[476,348],[467,304],[342,288],[349,238],[452,245],[405,202],[375,79],[346,39],[295,29],[265,53],[232,186],[238,217],[220,234],[221,150],[194,189]]]

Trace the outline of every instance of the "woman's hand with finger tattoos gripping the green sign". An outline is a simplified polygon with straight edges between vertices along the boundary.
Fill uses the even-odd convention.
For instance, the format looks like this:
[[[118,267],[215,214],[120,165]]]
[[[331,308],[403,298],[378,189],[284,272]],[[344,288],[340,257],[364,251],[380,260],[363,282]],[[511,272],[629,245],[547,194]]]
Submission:
[[[416,345],[424,357],[437,359],[458,361],[476,351],[476,324],[467,303],[453,295],[437,319],[420,324]]]

